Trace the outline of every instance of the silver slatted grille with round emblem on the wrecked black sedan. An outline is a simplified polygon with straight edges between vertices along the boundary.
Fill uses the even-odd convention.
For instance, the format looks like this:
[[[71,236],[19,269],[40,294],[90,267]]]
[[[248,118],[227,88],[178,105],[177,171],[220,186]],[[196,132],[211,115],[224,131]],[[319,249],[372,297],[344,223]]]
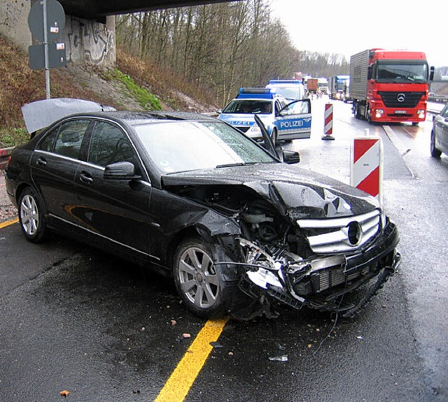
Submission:
[[[350,252],[365,245],[381,230],[381,212],[333,219],[300,219],[311,250],[317,254]]]

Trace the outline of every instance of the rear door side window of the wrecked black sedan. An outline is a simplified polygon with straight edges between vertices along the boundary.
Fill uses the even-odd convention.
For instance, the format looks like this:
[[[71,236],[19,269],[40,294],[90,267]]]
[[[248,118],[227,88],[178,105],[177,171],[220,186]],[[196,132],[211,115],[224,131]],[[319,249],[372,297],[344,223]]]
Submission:
[[[70,120],[61,124],[53,152],[78,159],[81,145],[90,120]]]

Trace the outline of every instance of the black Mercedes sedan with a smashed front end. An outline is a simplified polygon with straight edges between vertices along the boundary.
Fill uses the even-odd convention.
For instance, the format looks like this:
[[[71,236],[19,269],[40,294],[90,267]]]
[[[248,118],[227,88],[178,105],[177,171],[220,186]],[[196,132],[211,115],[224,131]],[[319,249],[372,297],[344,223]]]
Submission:
[[[13,151],[6,189],[29,241],[55,231],[155,268],[201,317],[356,314],[400,263],[395,224],[273,154],[204,115],[77,113]]]

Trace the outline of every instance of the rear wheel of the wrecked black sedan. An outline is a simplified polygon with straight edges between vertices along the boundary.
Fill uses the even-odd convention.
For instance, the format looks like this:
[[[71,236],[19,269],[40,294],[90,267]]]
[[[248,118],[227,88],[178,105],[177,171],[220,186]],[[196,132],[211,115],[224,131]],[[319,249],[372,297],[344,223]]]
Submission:
[[[20,194],[18,202],[19,221],[22,233],[32,243],[42,243],[48,238],[49,230],[43,213],[43,206],[37,193],[27,187]]]

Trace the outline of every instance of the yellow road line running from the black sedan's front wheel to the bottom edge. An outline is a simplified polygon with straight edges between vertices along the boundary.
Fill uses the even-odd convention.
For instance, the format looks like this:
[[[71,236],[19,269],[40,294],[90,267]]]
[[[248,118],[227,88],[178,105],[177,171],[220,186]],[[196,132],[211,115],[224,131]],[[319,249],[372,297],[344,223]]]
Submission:
[[[206,322],[154,402],[182,402],[185,399],[213,349],[210,343],[218,340],[226,322],[228,318]]]

